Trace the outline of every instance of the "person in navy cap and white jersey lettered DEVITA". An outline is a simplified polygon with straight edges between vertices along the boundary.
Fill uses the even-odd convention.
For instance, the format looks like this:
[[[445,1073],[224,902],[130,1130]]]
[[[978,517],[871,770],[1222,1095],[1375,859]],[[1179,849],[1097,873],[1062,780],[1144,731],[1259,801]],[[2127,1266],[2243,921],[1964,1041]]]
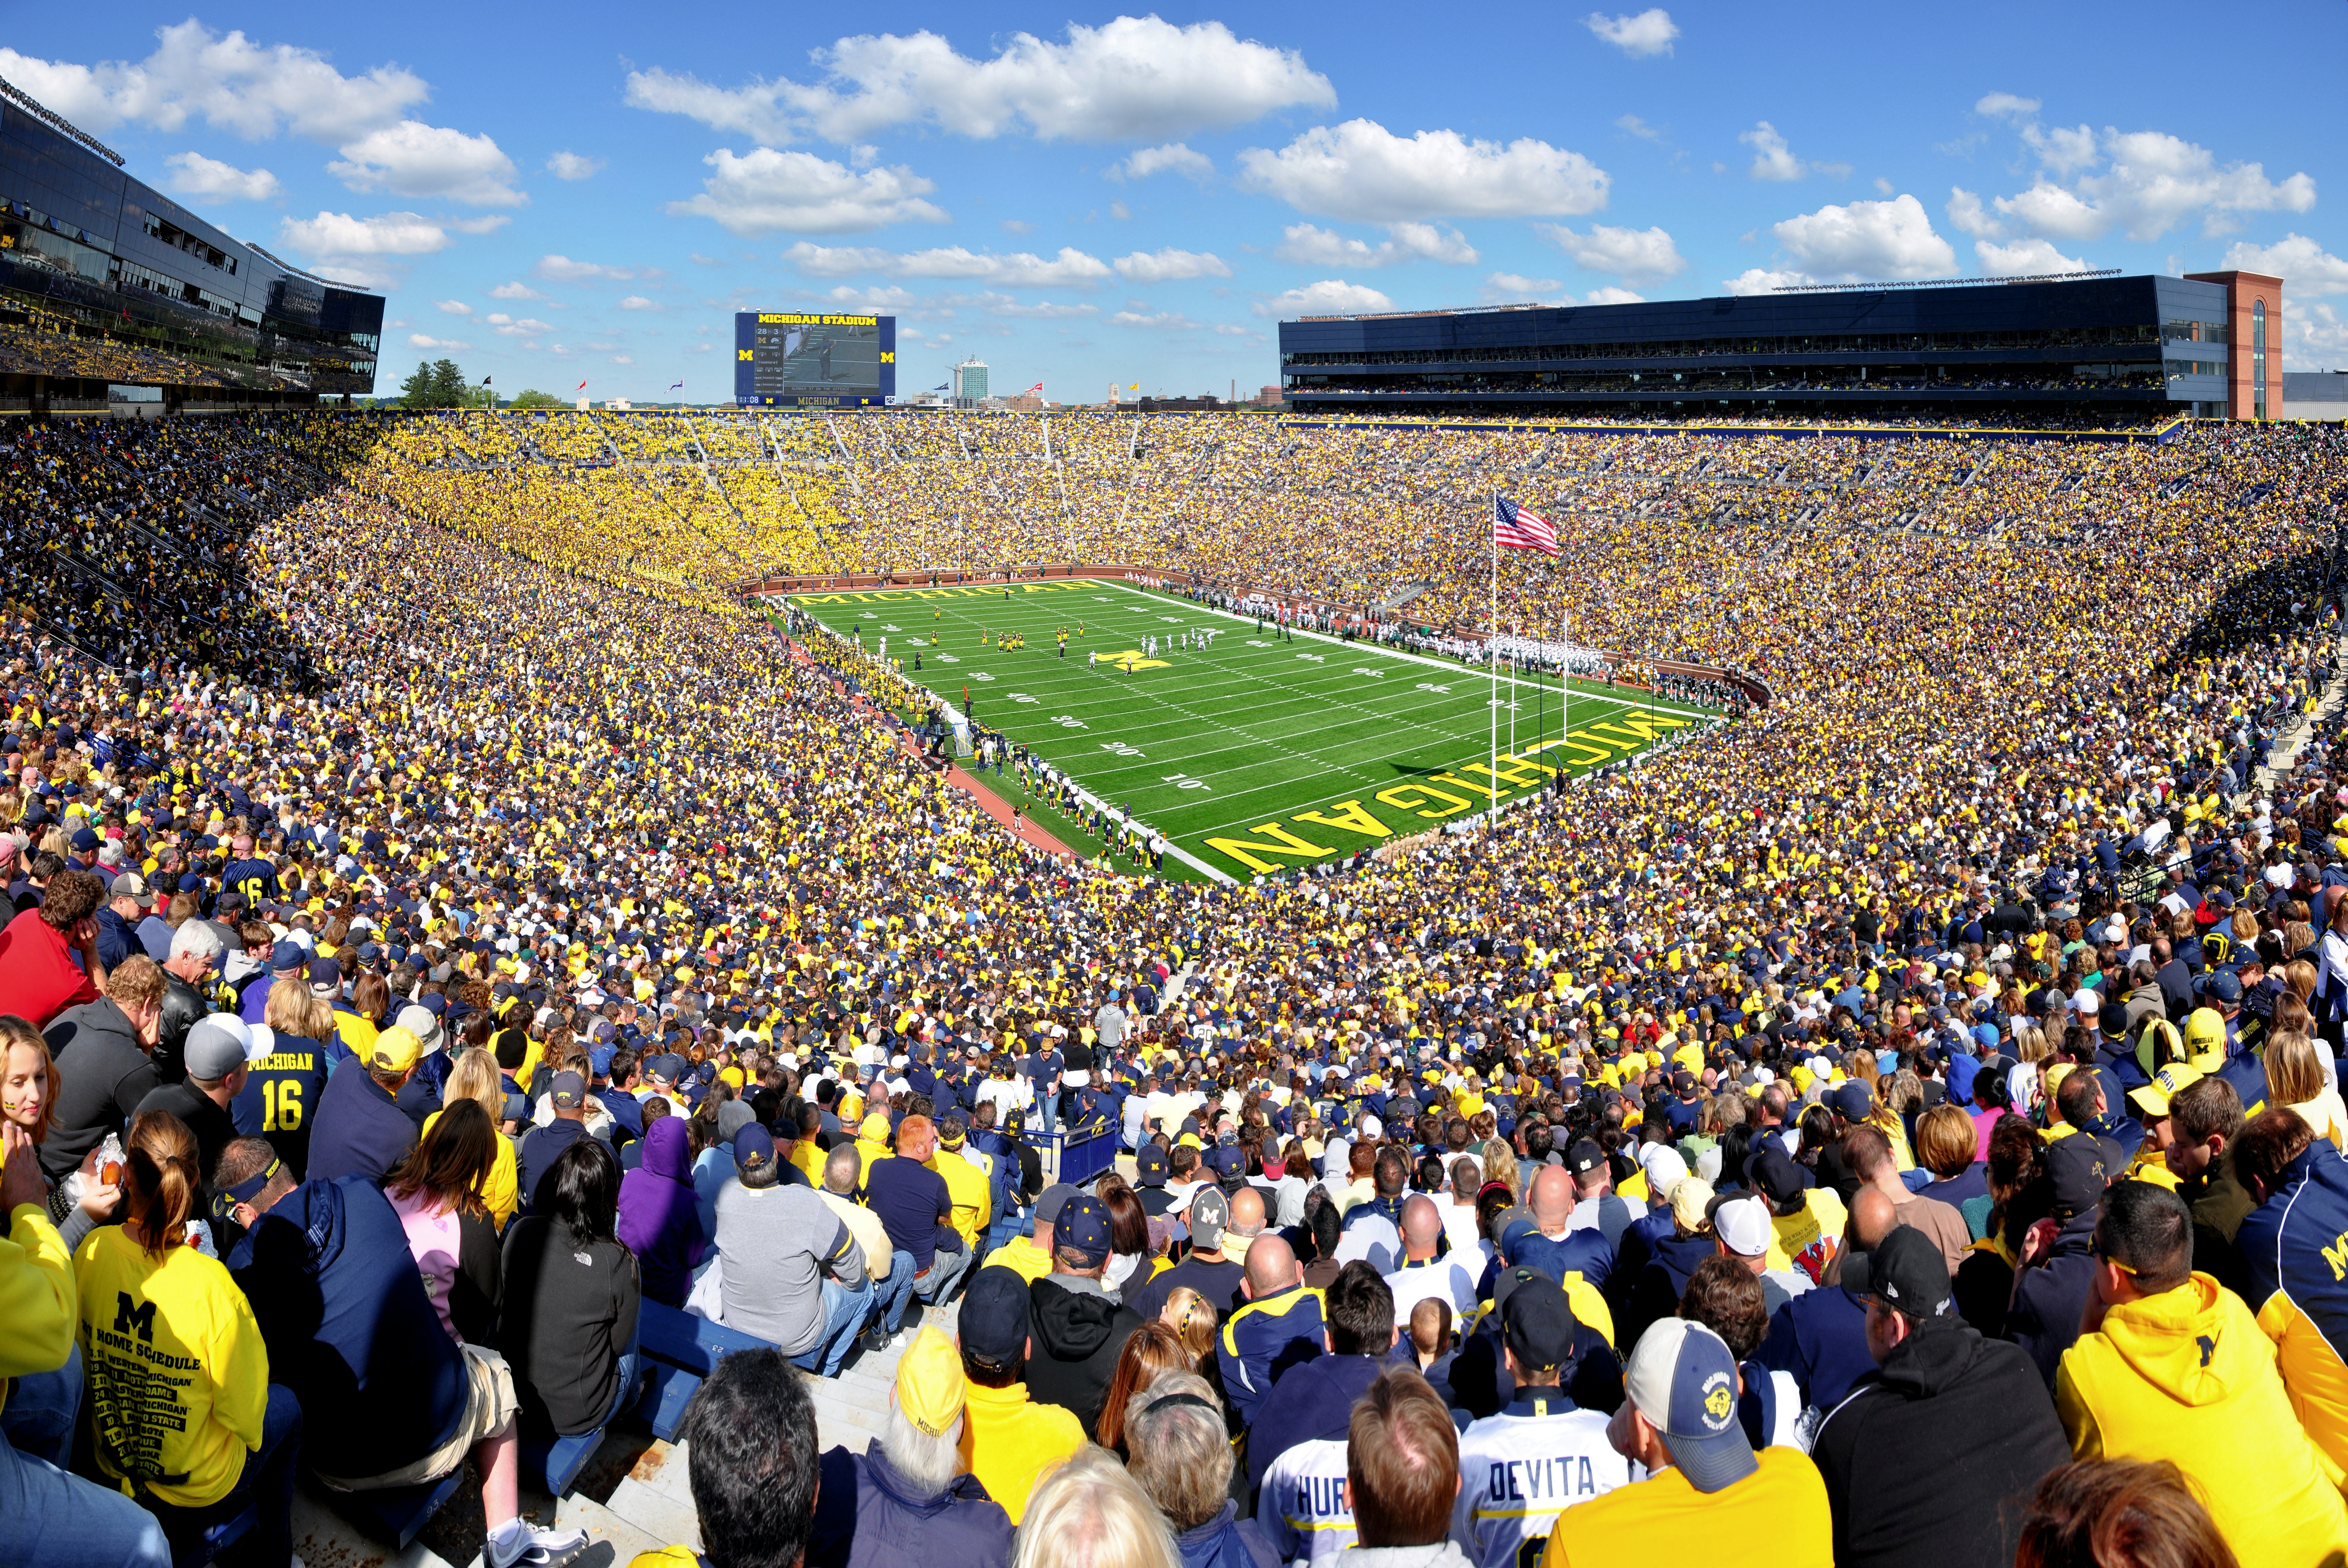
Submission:
[[[1517,1399],[1460,1434],[1460,1500],[1451,1540],[1477,1568],[1533,1568],[1576,1502],[1644,1481],[1606,1441],[1606,1415],[1559,1387],[1573,1357],[1573,1307],[1547,1279],[1512,1289],[1498,1307]]]

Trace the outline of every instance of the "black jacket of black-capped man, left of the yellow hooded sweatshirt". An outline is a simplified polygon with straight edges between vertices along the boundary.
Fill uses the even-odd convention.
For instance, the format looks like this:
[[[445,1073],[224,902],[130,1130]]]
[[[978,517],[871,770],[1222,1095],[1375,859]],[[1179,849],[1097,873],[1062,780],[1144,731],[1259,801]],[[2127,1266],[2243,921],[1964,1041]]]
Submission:
[[[1900,1474],[1883,1469],[1900,1455]],[[2019,1345],[1946,1317],[1860,1378],[1810,1451],[1836,1568],[2005,1568],[2038,1481],[2071,1458]]]

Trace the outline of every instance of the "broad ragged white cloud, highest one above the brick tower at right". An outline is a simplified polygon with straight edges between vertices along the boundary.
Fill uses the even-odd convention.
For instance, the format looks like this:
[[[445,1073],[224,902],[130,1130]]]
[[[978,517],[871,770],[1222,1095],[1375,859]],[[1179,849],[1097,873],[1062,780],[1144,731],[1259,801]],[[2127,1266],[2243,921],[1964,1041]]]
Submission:
[[[2308,211],[2315,181],[2292,174],[2266,178],[2254,162],[2219,164],[2209,148],[2167,131],[2101,134],[2024,127],[2022,138],[2038,155],[2040,174],[2029,190],[1998,197],[1996,209],[2050,239],[2101,239],[2120,230],[2130,239],[2158,239],[2191,214],[2202,214],[2202,235],[2240,228],[2245,211]]]

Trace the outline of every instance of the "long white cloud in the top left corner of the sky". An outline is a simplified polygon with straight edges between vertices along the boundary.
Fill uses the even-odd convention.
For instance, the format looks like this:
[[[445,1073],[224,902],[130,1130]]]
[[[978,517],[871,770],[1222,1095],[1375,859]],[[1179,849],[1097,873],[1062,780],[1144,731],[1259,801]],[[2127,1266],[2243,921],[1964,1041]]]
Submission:
[[[340,143],[392,124],[430,96],[423,77],[397,66],[348,77],[312,49],[263,47],[200,21],[157,28],[155,52],[143,61],[75,66],[0,47],[0,77],[89,131],[117,124],[178,131],[200,117],[247,141],[291,129]]]

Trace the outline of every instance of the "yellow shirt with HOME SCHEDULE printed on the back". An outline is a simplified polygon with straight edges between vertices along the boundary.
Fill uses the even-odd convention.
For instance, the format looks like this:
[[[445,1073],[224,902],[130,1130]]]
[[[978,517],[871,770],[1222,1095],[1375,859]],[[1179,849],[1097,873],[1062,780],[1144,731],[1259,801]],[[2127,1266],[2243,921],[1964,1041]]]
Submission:
[[[218,1502],[261,1446],[270,1352],[228,1270],[193,1246],[150,1258],[120,1225],[73,1251],[99,1469],[160,1502]]]

